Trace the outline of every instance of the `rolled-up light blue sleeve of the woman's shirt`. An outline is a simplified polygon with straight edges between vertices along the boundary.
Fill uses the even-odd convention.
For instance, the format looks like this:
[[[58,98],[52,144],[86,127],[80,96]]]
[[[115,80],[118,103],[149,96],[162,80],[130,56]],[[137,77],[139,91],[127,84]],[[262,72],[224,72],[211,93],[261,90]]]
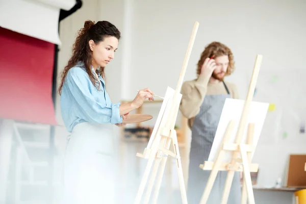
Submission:
[[[121,123],[120,103],[106,106],[106,102],[96,101],[90,93],[91,81],[86,74],[82,69],[70,69],[66,77],[66,86],[75,99],[75,103],[79,106],[78,115],[80,118],[93,123]]]

